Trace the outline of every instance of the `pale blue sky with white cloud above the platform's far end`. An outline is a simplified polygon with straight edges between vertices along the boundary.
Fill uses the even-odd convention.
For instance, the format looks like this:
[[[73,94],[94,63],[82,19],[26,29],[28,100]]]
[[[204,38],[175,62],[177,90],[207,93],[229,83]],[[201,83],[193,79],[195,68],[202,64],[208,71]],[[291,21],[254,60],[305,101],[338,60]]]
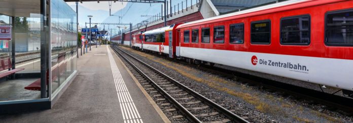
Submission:
[[[173,0],[172,6],[177,5],[185,0]],[[189,0],[188,0],[189,1]],[[196,1],[196,0],[195,0]],[[76,11],[75,2],[67,2],[67,4]],[[131,3],[131,2],[112,2],[112,15],[109,16],[109,3],[108,2],[83,2],[79,3],[79,25],[81,28],[85,27],[85,23],[89,23],[88,15],[92,15],[93,18],[91,22],[93,23],[118,23],[119,17],[121,23],[132,23],[135,25],[143,20],[146,20],[146,17],[140,17],[141,15],[156,15],[161,12],[161,3],[157,4],[146,4],[146,3]],[[189,5],[190,6],[190,5]],[[174,9],[173,9],[174,10]],[[89,27],[89,25],[87,25]],[[93,25],[91,25],[93,26]],[[103,25],[98,25],[103,29]],[[117,32],[118,28],[116,26],[105,26],[105,29],[113,28],[112,32]],[[128,28],[128,26],[127,26]],[[121,28],[122,29],[122,28]]]

